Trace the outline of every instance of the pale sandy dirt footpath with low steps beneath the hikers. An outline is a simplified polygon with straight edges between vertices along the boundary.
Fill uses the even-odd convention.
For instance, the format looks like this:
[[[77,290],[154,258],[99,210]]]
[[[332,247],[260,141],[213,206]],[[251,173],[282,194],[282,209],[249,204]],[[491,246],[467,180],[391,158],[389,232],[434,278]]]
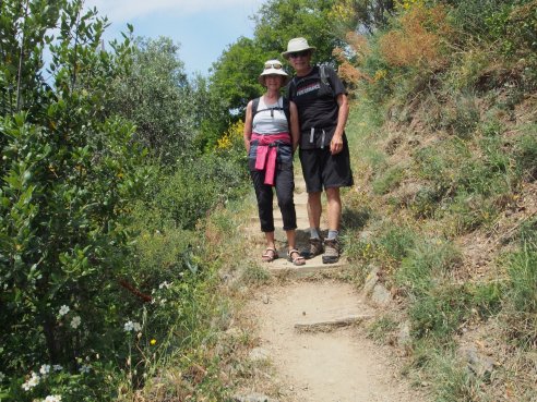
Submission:
[[[307,246],[305,184],[296,176],[298,248]],[[282,228],[275,206],[276,228]],[[260,260],[263,236],[252,217],[251,257]],[[324,226],[325,227],[325,226]],[[237,401],[270,402],[420,402],[427,401],[401,378],[395,353],[367,338],[363,324],[377,312],[368,297],[338,280],[345,259],[323,265],[321,257],[295,267],[286,260],[285,233],[276,231],[281,258],[262,266],[273,280],[255,289],[247,312],[254,317],[255,342],[250,360],[265,362],[267,383],[253,381]],[[264,367],[264,368],[263,368]],[[260,368],[255,368],[260,369]]]

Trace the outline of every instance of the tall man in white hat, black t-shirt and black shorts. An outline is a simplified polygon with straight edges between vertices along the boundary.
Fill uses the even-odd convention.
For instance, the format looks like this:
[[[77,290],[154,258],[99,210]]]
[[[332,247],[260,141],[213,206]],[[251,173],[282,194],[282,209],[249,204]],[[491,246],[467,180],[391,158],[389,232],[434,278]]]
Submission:
[[[345,124],[348,101],[337,74],[327,66],[311,65],[315,50],[305,38],[290,39],[282,57],[295,69],[296,75],[287,85],[287,96],[298,108],[300,122],[299,157],[308,192],[311,258],[323,254],[323,264],[339,260],[338,233],[342,220],[339,188],[351,186],[353,172]],[[326,194],[329,234],[321,239],[321,194]]]

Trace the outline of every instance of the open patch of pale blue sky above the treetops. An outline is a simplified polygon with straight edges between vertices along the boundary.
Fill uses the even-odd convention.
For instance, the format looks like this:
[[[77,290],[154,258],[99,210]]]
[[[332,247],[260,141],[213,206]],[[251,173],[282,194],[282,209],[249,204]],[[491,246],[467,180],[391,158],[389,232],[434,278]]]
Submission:
[[[111,25],[105,40],[120,38],[134,27],[134,36],[166,36],[180,46],[187,73],[207,75],[222,52],[241,36],[252,38],[255,14],[265,0],[86,0]]]

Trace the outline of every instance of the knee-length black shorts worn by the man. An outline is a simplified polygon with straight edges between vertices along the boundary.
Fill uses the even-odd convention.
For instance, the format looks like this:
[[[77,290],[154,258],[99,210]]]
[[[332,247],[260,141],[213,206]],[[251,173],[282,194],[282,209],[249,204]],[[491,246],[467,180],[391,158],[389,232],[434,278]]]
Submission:
[[[298,155],[308,193],[322,192],[323,188],[348,187],[354,184],[348,143],[345,136],[339,154],[332,155],[329,146],[299,149]]]

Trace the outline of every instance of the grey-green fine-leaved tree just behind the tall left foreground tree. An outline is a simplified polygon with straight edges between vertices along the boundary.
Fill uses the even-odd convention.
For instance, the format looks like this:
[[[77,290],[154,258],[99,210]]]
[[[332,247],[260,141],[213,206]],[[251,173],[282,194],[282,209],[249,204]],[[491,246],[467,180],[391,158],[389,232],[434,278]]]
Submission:
[[[195,125],[192,90],[178,51],[170,38],[138,38],[128,75],[114,82],[110,105],[136,124],[134,138],[166,165],[189,151]]]

